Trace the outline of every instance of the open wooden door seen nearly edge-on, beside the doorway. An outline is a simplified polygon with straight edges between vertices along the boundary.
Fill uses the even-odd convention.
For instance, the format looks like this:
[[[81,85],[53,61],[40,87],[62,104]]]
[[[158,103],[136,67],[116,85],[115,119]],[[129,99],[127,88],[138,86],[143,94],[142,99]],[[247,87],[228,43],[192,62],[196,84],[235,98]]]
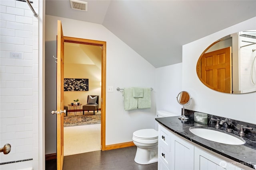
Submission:
[[[62,170],[64,159],[64,37],[61,21],[57,34],[57,170]],[[59,112],[58,112],[59,111]]]

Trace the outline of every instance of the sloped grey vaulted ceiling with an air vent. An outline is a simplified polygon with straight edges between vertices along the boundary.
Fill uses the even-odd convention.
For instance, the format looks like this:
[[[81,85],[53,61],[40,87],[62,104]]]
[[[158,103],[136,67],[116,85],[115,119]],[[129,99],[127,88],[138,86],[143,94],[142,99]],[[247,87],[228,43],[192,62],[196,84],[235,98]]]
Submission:
[[[256,0],[46,0],[46,15],[99,23],[156,68],[182,62],[182,45],[256,16]],[[242,30],[241,30],[242,31]]]

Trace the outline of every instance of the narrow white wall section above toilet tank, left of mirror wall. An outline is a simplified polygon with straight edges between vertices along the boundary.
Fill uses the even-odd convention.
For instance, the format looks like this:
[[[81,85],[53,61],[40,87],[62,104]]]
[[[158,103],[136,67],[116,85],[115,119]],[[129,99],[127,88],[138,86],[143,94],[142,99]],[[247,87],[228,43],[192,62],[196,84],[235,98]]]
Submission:
[[[182,63],[156,68],[156,110],[181,115],[176,96],[182,91]]]

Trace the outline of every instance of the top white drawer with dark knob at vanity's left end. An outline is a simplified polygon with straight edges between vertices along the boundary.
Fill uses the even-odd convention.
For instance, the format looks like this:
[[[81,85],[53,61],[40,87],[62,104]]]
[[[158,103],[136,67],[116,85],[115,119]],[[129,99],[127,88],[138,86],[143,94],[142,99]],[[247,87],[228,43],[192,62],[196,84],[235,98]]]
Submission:
[[[161,125],[158,127],[158,142],[166,151],[170,150],[170,132]]]

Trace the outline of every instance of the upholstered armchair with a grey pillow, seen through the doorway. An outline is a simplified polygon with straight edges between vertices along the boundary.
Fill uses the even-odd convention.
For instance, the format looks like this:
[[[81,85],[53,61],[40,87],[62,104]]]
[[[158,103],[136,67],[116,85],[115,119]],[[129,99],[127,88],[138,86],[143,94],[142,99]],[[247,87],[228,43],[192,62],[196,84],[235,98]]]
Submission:
[[[93,110],[93,114],[95,115],[95,110],[97,110],[97,112],[99,111],[99,96],[95,96],[95,95],[88,95],[87,96],[87,104],[83,105],[83,115],[84,115],[84,111],[87,110],[89,112],[89,110]]]

